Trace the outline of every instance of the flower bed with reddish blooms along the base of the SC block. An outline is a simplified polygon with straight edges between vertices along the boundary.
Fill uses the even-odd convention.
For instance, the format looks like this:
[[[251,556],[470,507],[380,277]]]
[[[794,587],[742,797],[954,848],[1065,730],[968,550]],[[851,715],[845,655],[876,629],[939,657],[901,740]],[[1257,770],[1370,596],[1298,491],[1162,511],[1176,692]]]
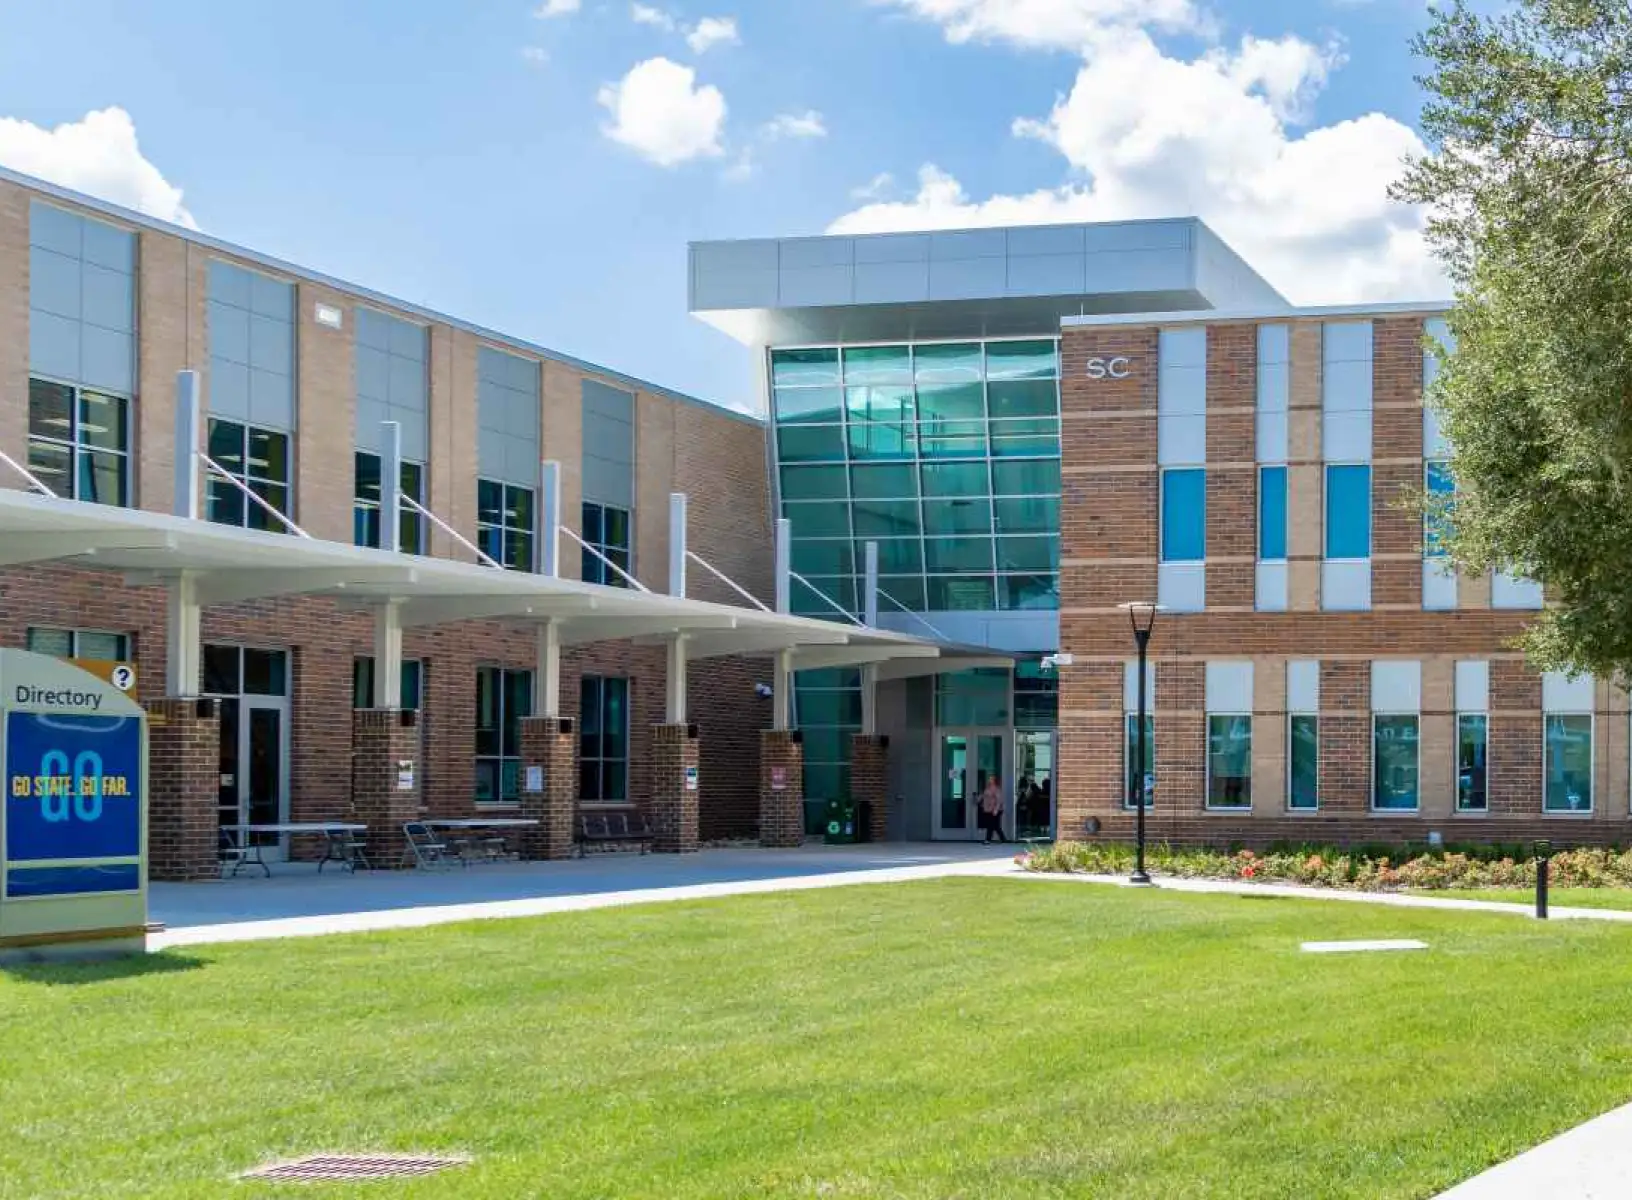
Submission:
[[[1133,846],[1121,842],[1056,842],[1015,859],[1027,870],[1126,875]],[[1405,888],[1532,888],[1536,860],[1511,847],[1353,847],[1291,846],[1268,851],[1146,847],[1152,873],[1180,878],[1307,883],[1356,891]],[[1583,847],[1552,856],[1555,888],[1632,888],[1632,849]]]

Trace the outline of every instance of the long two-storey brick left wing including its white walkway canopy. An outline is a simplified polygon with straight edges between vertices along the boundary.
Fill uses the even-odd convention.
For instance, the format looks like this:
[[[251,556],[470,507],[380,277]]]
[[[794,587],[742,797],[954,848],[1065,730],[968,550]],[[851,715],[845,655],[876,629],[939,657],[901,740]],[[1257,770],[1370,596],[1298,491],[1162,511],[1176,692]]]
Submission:
[[[792,671],[955,656],[778,611],[762,446],[0,173],[0,645],[135,668],[158,877],[245,823],[356,818],[385,860],[419,815],[537,818],[534,857],[597,811],[659,849],[798,841]]]

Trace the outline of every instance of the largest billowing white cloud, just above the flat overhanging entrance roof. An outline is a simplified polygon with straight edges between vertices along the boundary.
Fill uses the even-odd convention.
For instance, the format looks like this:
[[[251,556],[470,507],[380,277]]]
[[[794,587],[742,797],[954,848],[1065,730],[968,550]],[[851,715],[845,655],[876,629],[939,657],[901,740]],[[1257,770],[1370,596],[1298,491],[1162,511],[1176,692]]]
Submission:
[[[1053,145],[1077,178],[971,199],[934,165],[911,199],[871,202],[834,232],[1196,216],[1294,302],[1444,294],[1421,212],[1392,202],[1417,134],[1381,113],[1289,127],[1335,56],[1296,38],[1196,59],[1134,29],[1095,34],[1071,93],[1015,134]]]

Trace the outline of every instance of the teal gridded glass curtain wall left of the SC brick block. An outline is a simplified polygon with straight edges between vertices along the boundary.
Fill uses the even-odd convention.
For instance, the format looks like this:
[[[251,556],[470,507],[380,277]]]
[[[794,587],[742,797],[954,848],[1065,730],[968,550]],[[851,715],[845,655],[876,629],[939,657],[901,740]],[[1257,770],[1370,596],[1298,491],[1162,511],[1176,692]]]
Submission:
[[[876,540],[881,612],[1059,607],[1058,340],[774,349],[770,382],[782,516],[813,588],[860,614]],[[839,616],[798,580],[792,604]],[[860,676],[803,671],[795,705],[819,815],[849,793]]]

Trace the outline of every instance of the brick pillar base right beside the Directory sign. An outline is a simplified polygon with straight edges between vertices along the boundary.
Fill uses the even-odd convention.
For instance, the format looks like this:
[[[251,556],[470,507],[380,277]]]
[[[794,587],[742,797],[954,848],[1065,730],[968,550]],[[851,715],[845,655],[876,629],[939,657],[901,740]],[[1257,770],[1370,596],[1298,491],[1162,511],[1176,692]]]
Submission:
[[[220,709],[215,700],[147,705],[147,873],[220,878]]]

